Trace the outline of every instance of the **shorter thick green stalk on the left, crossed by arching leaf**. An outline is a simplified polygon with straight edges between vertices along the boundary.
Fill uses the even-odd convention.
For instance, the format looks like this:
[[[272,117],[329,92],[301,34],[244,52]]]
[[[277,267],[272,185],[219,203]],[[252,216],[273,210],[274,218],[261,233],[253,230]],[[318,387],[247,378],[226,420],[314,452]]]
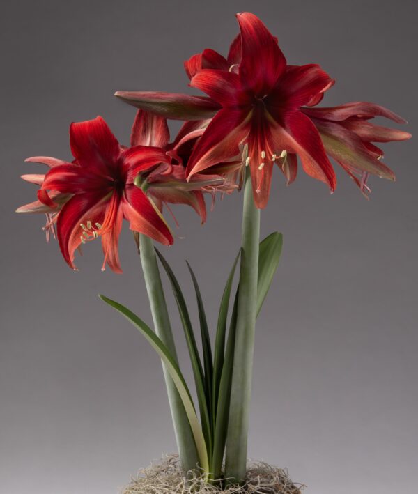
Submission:
[[[167,304],[162,288],[160,271],[158,270],[153,240],[148,236],[141,234],[140,248],[142,270],[144,271],[146,291],[150,301],[155,332],[165,346],[167,346],[173,359],[178,362],[176,345],[174,344],[173,333],[171,332],[169,313],[167,311]],[[189,470],[194,470],[197,463],[199,463],[192,429],[190,428],[189,420],[187,419],[185,408],[176,389],[176,385],[173,383],[165,364],[162,364],[162,369],[164,371],[164,379],[167,386],[167,394],[169,396],[178,453],[180,455],[183,470],[188,472]]]

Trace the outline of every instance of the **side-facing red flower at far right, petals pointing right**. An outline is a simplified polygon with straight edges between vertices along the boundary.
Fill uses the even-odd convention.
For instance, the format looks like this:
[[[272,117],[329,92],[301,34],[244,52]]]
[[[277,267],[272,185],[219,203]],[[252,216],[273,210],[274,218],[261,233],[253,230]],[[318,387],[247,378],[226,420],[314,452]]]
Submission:
[[[406,123],[400,116],[368,102],[346,103],[332,108],[304,108],[318,129],[325,150],[353,178],[364,196],[370,192],[369,174],[394,180],[394,172],[380,160],[383,151],[373,142],[405,141],[411,134],[371,123],[376,116]]]

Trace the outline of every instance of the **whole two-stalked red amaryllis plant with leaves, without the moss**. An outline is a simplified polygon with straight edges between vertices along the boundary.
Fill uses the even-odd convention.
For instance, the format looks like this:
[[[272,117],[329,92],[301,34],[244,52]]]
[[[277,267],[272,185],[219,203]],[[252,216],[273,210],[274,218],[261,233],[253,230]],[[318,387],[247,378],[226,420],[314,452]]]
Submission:
[[[49,169],[22,176],[39,186],[38,199],[17,210],[45,213],[47,238],[58,238],[63,258],[73,269],[76,252],[101,238],[102,269],[109,265],[121,272],[118,237],[127,220],[139,247],[153,329],[118,302],[101,298],[137,327],[162,358],[183,469],[199,468],[208,481],[221,486],[222,479],[245,479],[256,317],[282,245],[277,232],[259,242],[260,213],[268,205],[275,165],[289,185],[300,162],[305,173],[334,192],[333,160],[367,196],[369,176],[394,180],[375,143],[410,138],[407,132],[373,123],[375,117],[405,123],[379,105],[318,107],[334,79],[316,64],[288,65],[277,38],[258,17],[241,13],[237,18],[240,33],[226,57],[205,49],[185,62],[189,86],[205,95],[118,91],[118,98],[139,109],[130,147],[118,143],[101,117],[72,123],[74,160],[28,158]],[[184,121],[173,141],[167,118]],[[240,190],[242,245],[226,279],[212,344],[192,268],[198,332],[176,276],[153,240],[173,243],[163,216],[165,210],[171,212],[170,205],[191,206],[203,223],[206,194]],[[183,323],[197,406],[177,359],[158,258]]]

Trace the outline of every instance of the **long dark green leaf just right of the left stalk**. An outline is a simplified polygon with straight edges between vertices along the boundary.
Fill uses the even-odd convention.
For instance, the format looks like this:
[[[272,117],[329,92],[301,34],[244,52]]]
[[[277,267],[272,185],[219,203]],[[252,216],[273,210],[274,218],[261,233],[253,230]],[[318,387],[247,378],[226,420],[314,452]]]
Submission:
[[[171,284],[171,288],[173,289],[174,298],[176,299],[176,304],[178,307],[178,313],[180,314],[180,320],[183,325],[183,330],[185,332],[185,338],[187,343],[187,348],[189,350],[190,361],[192,362],[194,383],[196,385],[196,393],[197,400],[199,403],[199,410],[201,414],[201,422],[203,434],[206,438],[206,443],[208,445],[208,451],[212,451],[212,433],[210,429],[210,418],[209,418],[209,409],[208,403],[206,401],[205,394],[205,386],[204,386],[204,374],[203,368],[201,364],[201,360],[199,357],[199,350],[197,349],[196,339],[194,338],[194,332],[192,323],[190,321],[189,311],[187,311],[187,305],[185,302],[185,298],[181,291],[180,285],[171,270],[169,263],[164,259],[161,252],[158,249],[155,249],[157,252],[157,256],[160,258],[162,267],[165,272],[167,272],[167,276],[169,277],[169,281]]]

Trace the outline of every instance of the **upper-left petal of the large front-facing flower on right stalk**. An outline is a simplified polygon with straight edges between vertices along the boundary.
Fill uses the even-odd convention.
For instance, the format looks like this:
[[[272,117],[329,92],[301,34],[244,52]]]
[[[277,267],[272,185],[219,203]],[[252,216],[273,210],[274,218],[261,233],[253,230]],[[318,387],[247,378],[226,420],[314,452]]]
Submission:
[[[241,88],[240,77],[233,72],[204,69],[193,77],[189,85],[200,89],[223,107],[249,105],[248,95]]]

